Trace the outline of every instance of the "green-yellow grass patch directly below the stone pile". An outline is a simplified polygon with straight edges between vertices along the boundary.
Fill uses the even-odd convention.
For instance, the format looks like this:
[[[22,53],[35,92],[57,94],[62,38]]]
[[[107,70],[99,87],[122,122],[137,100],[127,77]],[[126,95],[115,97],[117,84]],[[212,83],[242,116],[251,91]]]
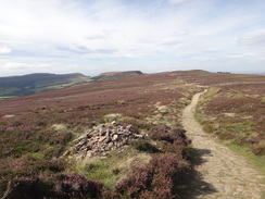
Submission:
[[[150,154],[128,147],[122,152],[113,151],[103,158],[76,161],[71,172],[77,172],[88,179],[99,179],[105,187],[113,188],[121,178],[127,176],[131,165],[146,163],[150,159]]]

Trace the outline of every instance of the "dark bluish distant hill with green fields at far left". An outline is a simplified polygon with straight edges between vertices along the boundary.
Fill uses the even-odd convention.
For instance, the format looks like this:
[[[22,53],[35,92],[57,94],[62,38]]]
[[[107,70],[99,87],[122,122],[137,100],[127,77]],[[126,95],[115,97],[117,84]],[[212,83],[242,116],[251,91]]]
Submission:
[[[0,77],[0,98],[27,96],[89,82],[90,78],[80,73],[66,75],[35,73],[23,76]]]

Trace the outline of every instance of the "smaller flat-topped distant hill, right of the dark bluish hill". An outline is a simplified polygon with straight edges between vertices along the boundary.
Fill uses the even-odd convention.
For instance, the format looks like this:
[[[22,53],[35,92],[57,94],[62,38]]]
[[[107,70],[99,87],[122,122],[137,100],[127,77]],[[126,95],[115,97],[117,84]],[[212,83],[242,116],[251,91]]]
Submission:
[[[125,78],[129,76],[142,75],[143,73],[140,71],[125,71],[125,72],[108,72],[101,73],[100,75],[91,77],[92,82],[105,82],[105,80],[114,80],[118,78]]]

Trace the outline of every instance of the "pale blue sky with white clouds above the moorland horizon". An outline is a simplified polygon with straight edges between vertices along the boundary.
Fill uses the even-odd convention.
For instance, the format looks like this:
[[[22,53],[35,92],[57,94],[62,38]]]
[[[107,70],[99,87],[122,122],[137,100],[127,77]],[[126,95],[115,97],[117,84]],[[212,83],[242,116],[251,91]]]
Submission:
[[[0,0],[0,76],[265,72],[264,0]]]

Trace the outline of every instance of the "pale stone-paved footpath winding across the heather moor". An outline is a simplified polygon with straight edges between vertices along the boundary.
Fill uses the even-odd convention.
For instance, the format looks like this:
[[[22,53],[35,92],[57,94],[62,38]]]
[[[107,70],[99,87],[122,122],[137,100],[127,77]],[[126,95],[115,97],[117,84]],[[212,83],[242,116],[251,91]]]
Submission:
[[[182,125],[201,157],[197,171],[205,184],[198,185],[195,198],[262,199],[262,176],[244,160],[205,134],[193,112],[202,92],[194,95],[182,113]]]

